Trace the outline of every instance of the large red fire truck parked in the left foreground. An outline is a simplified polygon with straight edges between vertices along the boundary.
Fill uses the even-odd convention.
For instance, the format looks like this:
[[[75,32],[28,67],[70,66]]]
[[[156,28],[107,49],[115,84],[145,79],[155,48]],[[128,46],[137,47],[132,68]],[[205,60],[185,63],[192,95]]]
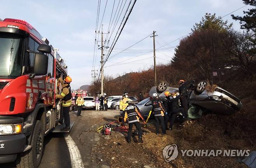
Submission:
[[[57,78],[65,75],[57,49],[33,26],[0,21],[0,163],[40,164],[44,136],[63,127],[55,94],[61,92]]]

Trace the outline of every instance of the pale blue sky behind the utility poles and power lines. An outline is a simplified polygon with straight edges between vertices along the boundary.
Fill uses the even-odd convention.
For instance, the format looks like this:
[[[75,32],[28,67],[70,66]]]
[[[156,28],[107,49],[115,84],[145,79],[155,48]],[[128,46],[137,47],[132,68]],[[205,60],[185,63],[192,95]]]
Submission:
[[[106,1],[101,0],[100,21]],[[119,0],[115,0],[116,5],[118,2]],[[113,3],[114,0],[107,2],[102,20],[104,32],[107,32]],[[68,73],[73,79],[73,88],[90,84],[98,0],[1,0],[0,4],[4,6],[0,10],[1,19],[15,18],[29,22],[51,45],[60,49],[59,53],[66,60]],[[205,13],[223,16],[243,6],[242,0],[137,0],[116,48],[127,48],[153,31],[158,34],[156,48],[159,48],[164,45],[164,41],[170,42],[188,34],[195,22],[199,22]],[[233,14],[243,15],[242,11],[248,8],[249,6],[246,6]],[[240,29],[239,22],[231,19],[230,15],[223,19],[233,22],[235,30]],[[172,46],[178,44],[179,40],[166,45],[168,50],[157,51],[156,62],[168,62],[174,55]],[[153,65],[153,52],[149,52],[153,50],[152,38],[148,37],[130,49],[133,53],[126,51],[109,59],[105,64],[104,73],[115,77]],[[120,50],[113,50],[112,55]],[[148,53],[143,53],[146,50]],[[123,60],[126,61],[119,63]],[[113,66],[114,64],[116,66]],[[96,54],[95,69],[98,69],[99,65],[100,51]]]

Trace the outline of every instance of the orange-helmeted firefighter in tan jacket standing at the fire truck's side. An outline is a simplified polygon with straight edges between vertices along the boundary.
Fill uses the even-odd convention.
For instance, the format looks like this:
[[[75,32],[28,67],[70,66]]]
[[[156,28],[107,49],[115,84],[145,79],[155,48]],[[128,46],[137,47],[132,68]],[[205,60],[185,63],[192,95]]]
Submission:
[[[62,103],[62,110],[63,110],[63,116],[65,120],[65,127],[61,130],[69,130],[70,129],[70,116],[69,116],[69,109],[72,105],[72,94],[71,94],[71,87],[70,82],[72,82],[72,79],[70,76],[66,76],[64,81],[60,77],[58,81],[61,83],[61,94],[56,94],[56,99],[61,99]]]

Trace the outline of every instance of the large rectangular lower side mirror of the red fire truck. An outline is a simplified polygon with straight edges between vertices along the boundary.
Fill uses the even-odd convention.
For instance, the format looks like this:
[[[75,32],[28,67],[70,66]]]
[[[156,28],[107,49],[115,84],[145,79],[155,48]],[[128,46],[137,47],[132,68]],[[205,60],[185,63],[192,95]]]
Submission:
[[[46,75],[48,68],[48,56],[42,53],[35,54],[34,73],[35,75]]]

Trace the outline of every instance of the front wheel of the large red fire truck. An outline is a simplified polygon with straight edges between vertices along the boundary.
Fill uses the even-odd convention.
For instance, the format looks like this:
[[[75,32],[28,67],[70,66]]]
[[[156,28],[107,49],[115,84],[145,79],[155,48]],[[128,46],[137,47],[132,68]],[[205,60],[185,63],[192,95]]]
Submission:
[[[37,120],[32,135],[32,148],[19,154],[16,159],[17,168],[37,168],[40,164],[44,144],[44,129],[42,122]]]

